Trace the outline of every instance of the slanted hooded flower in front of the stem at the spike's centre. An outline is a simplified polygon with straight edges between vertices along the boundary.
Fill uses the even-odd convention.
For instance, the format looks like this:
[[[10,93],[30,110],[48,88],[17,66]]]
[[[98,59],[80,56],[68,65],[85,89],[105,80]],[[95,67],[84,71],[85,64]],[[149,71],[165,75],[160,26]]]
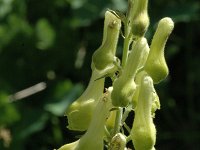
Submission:
[[[114,106],[126,107],[131,102],[136,89],[135,75],[139,67],[146,62],[146,58],[143,57],[144,51],[149,51],[147,40],[139,38],[133,44],[121,76],[113,83],[111,97]]]

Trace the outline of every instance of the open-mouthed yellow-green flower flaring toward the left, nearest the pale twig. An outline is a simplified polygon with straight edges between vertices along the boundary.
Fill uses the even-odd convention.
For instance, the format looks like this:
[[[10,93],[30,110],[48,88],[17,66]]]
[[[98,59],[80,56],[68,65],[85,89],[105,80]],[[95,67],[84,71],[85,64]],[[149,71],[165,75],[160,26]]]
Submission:
[[[105,78],[96,80],[99,72],[93,69],[89,85],[84,93],[66,111],[70,130],[87,130],[94,108],[103,94]]]

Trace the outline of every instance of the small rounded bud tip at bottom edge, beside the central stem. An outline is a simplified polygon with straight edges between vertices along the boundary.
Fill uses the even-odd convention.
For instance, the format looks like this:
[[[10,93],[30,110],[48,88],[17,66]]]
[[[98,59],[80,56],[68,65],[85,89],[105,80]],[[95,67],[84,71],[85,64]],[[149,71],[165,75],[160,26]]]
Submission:
[[[117,133],[110,142],[110,150],[124,150],[126,148],[126,137]]]

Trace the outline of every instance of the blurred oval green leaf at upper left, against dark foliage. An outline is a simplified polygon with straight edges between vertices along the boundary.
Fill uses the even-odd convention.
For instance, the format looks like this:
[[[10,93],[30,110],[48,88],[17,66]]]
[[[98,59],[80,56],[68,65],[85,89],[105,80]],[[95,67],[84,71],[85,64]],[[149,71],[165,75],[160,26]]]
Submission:
[[[54,44],[55,31],[46,19],[40,19],[36,24],[37,48],[45,50]]]

